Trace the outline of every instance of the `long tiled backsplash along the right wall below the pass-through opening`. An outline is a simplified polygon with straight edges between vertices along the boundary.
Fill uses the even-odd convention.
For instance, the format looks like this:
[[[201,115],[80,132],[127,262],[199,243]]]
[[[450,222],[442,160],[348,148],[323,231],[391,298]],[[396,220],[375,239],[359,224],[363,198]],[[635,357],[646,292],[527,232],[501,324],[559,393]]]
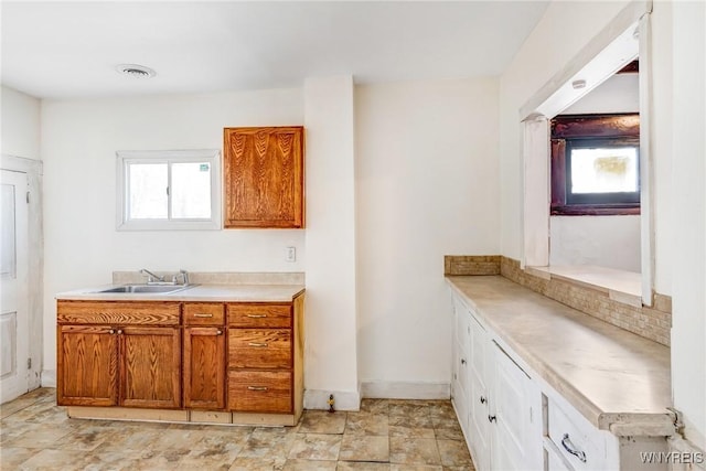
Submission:
[[[605,322],[635,333],[657,343],[670,345],[672,328],[672,299],[655,295],[654,308],[624,304],[610,299],[605,292],[557,279],[544,279],[520,268],[520,261],[501,257],[503,277],[533,291],[559,301]]]

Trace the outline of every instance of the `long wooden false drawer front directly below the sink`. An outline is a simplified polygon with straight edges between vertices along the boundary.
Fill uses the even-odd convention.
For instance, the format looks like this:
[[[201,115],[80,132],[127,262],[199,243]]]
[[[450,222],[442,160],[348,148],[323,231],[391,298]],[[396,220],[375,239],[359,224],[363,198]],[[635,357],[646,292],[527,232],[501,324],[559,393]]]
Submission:
[[[179,325],[179,302],[58,301],[60,324]]]

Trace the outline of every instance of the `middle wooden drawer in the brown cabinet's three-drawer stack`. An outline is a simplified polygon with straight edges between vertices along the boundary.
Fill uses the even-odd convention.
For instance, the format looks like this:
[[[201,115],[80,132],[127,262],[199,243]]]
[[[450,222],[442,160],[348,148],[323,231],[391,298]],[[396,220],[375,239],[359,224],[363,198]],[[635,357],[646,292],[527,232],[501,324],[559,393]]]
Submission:
[[[289,329],[228,329],[229,368],[290,368]]]

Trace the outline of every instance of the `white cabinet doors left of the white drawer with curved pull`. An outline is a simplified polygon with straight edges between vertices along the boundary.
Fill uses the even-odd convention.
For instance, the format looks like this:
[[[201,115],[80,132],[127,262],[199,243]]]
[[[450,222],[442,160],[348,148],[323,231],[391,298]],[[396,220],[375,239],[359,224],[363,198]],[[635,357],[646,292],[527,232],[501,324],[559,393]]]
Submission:
[[[453,404],[475,469],[542,469],[541,396],[454,296]]]

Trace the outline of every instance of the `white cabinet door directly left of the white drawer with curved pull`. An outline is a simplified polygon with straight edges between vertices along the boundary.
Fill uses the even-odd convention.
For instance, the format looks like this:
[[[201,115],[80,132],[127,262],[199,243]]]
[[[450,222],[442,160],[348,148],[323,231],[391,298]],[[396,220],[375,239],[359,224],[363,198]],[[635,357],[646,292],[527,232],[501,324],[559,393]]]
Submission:
[[[498,470],[543,469],[542,398],[530,376],[493,342],[494,384],[489,420]]]

